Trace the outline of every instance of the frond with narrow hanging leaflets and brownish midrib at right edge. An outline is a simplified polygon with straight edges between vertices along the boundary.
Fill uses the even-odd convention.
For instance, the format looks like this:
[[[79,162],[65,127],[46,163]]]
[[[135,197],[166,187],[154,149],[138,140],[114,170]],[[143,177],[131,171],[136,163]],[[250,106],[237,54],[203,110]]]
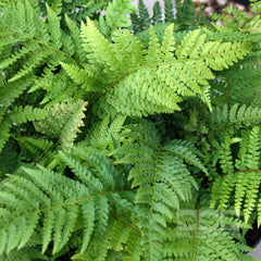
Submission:
[[[217,204],[225,210],[234,204],[237,214],[243,211],[243,216],[248,222],[257,210],[261,184],[260,127],[254,126],[251,132],[243,130],[241,136],[235,163],[232,157],[232,138],[227,137],[222,146],[220,164],[224,176],[217,177],[213,184],[212,206]]]

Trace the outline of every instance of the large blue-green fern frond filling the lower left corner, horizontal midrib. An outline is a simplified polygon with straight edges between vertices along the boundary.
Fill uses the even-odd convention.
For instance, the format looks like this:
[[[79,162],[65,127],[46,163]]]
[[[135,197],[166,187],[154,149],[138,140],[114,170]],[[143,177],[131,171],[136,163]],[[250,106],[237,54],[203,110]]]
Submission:
[[[117,204],[122,201],[120,206],[124,206],[125,212],[132,212],[133,206],[121,195],[122,183],[115,183],[121,176],[116,170],[112,174],[113,166],[105,157],[80,149],[72,157],[61,157],[75,174],[75,181],[38,165],[38,170],[23,169],[1,184],[1,253],[25,247],[41,227],[39,222],[42,252],[51,241],[53,253],[59,252],[80,228],[83,253],[90,240],[99,241],[108,233],[110,197]]]

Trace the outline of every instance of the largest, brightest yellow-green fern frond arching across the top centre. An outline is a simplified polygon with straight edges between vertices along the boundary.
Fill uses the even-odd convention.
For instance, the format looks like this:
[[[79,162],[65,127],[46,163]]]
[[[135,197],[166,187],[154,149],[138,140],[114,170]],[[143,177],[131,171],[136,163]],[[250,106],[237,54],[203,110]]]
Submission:
[[[211,70],[224,70],[251,50],[251,45],[245,41],[206,41],[206,35],[199,29],[188,33],[174,50],[171,28],[170,26],[165,30],[162,50],[156,32],[151,28],[149,48],[144,60],[140,61],[138,51],[139,60],[126,58],[123,62],[120,58],[123,44],[110,44],[90,21],[87,26],[82,26],[88,58],[92,64],[97,64],[103,75],[103,83],[108,86],[104,86],[107,91],[101,100],[102,104],[105,102],[127,115],[171,113],[179,109],[177,103],[182,101],[181,96],[199,94],[206,99],[202,85],[208,86],[208,80],[214,78]],[[129,42],[129,38],[132,42],[135,39],[129,34],[122,36],[117,38],[121,42]],[[129,45],[127,49],[130,58],[137,51],[136,46]],[[164,54],[159,55],[160,51],[167,52],[167,61]],[[137,88],[138,82],[142,85],[139,84]]]

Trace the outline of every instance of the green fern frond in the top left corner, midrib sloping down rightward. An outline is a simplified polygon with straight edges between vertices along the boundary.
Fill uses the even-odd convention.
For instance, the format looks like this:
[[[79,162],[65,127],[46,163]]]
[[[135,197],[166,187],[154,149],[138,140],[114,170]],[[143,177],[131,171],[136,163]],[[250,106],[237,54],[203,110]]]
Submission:
[[[40,18],[39,5],[33,1],[7,4],[3,15],[0,17],[0,27],[5,32],[1,36],[0,53],[4,59],[1,61],[0,67],[4,70],[7,79],[14,84],[20,79],[32,78],[35,80],[38,78],[37,85],[30,86],[30,90],[44,88],[50,92],[50,100],[62,97],[62,92],[67,87],[64,86],[69,79],[64,71],[54,76],[54,71],[59,70],[59,62],[70,62],[82,66],[82,60],[75,59],[79,55],[84,57],[84,50],[80,48],[80,50],[74,51],[75,45],[80,46],[80,44],[76,44],[77,30],[72,37],[69,36],[61,28],[60,17],[49,5],[47,5],[47,22],[44,22]],[[72,23],[69,27],[71,30],[75,29]],[[50,86],[46,88],[52,80],[59,83],[52,85],[51,88]],[[45,102],[47,100],[48,98]]]

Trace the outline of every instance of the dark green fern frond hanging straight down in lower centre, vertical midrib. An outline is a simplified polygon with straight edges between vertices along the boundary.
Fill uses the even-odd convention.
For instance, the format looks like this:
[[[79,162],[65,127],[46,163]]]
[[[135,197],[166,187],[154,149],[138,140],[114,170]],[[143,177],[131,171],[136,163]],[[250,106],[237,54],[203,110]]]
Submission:
[[[188,152],[188,148],[182,149],[182,145],[186,146],[183,142],[173,140],[172,144],[161,145],[156,129],[147,122],[129,127],[132,132],[125,134],[129,144],[113,153],[120,156],[116,163],[134,165],[128,179],[133,188],[138,187],[136,204],[142,249],[147,260],[159,260],[166,223],[173,219],[173,211],[179,208],[179,201],[188,200],[191,188],[197,187],[183,159],[187,154],[189,163],[199,161],[191,151]],[[137,144],[133,144],[135,140]],[[196,165],[201,165],[198,163]]]

